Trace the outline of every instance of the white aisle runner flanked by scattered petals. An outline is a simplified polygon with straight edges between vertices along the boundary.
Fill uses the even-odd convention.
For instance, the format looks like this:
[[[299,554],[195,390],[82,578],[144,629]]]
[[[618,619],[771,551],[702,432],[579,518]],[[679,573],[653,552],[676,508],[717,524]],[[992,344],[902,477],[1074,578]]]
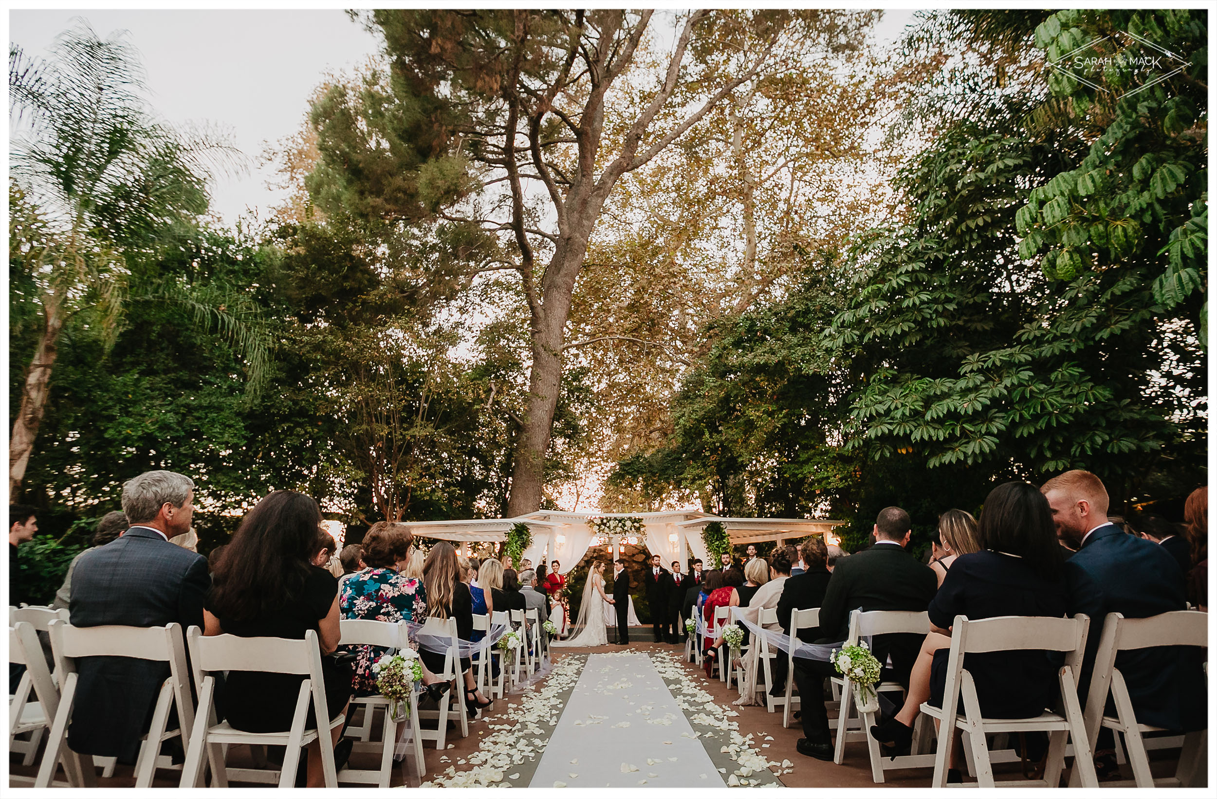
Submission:
[[[529,786],[724,787],[692,736],[649,657],[591,654]]]

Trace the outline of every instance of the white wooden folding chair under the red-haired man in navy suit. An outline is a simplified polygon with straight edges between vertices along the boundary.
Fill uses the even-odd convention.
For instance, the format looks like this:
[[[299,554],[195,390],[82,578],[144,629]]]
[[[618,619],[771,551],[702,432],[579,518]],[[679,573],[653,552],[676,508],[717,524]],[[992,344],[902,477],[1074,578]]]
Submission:
[[[1123,733],[1125,745],[1128,749],[1128,764],[1133,770],[1133,782],[1105,782],[1103,783],[1105,788],[1132,784],[1138,788],[1204,784],[1204,781],[1198,780],[1198,777],[1207,765],[1204,763],[1207,752],[1207,730],[1198,730],[1183,736],[1183,748],[1173,777],[1155,780],[1150,773],[1149,755],[1145,752],[1148,749],[1146,739],[1142,737],[1142,733],[1161,732],[1162,728],[1137,721],[1137,711],[1128,696],[1128,685],[1116,666],[1116,657],[1120,652],[1148,647],[1193,646],[1207,648],[1207,624],[1208,614],[1199,610],[1174,610],[1145,619],[1126,619],[1121,613],[1107,614],[1103,623],[1103,637],[1099,638],[1099,648],[1094,658],[1090,692],[1086,699],[1086,737],[1087,741],[1095,741],[1100,726]],[[1114,716],[1106,715],[1105,711],[1109,694],[1116,708]],[[1078,781],[1079,777],[1075,769],[1070,777],[1070,786],[1076,786]]]

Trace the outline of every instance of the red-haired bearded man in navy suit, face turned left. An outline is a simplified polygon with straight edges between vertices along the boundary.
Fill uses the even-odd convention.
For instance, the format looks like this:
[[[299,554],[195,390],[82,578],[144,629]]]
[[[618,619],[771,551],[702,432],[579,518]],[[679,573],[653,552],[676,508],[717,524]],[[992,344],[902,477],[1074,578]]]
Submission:
[[[1144,619],[1185,609],[1183,573],[1168,551],[1107,522],[1107,490],[1090,472],[1065,472],[1041,490],[1051,506],[1056,535],[1077,550],[1065,562],[1065,581],[1070,615],[1090,617],[1078,675],[1078,696],[1084,702],[1106,615]],[[1202,651],[1196,647],[1120,653],[1116,666],[1128,683],[1137,720],[1166,730],[1204,730],[1208,702],[1202,663]],[[1095,745],[1100,771],[1114,771],[1114,748],[1110,731],[1100,733]]]

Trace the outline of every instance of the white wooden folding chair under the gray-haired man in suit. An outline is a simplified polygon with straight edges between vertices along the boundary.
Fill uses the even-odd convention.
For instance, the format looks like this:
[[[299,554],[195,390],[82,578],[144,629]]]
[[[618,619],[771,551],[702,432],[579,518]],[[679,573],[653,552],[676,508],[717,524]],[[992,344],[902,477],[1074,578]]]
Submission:
[[[161,685],[151,726],[140,743],[140,753],[135,760],[135,787],[151,787],[157,769],[178,769],[169,756],[161,755],[161,745],[180,736],[183,749],[189,747],[190,727],[195,720],[195,703],[190,696],[181,625],[174,623],[163,628],[74,628],[67,621],[56,619],[51,621],[50,635],[55,670],[61,675],[62,690],[50,738],[46,742],[46,753],[43,755],[43,764],[34,784],[39,788],[51,784],[56,761],[66,752],[71,752],[67,745],[67,731],[77,692],[75,660],[86,657],[125,657],[169,664],[169,676]],[[168,730],[169,713],[173,708],[178,710],[179,727]],[[82,773],[85,778],[90,778],[92,769],[83,767]]]

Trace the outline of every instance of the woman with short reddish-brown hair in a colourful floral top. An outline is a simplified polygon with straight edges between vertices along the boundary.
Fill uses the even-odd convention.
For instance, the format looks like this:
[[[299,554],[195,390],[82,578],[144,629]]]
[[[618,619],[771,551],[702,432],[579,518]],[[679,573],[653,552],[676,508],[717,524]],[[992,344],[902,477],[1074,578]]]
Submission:
[[[427,601],[422,583],[405,574],[405,566],[415,551],[414,535],[405,525],[372,524],[364,535],[363,559],[368,568],[348,576],[338,593],[342,618],[389,623],[425,619]],[[372,664],[388,649],[365,645],[349,645],[343,649],[355,655],[350,686],[355,696],[380,693]]]

